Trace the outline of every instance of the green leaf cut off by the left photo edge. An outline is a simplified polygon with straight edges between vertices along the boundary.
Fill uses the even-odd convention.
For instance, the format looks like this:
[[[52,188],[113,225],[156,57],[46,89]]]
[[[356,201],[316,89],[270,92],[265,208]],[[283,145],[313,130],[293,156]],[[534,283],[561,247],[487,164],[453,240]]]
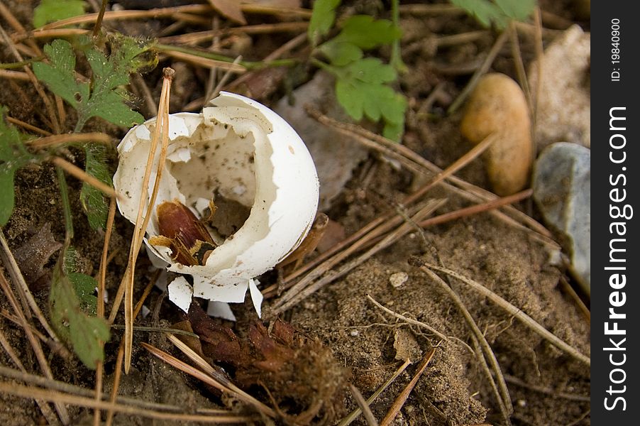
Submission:
[[[35,158],[22,143],[22,136],[4,121],[5,107],[0,107],[0,226],[6,225],[13,212],[16,171]]]

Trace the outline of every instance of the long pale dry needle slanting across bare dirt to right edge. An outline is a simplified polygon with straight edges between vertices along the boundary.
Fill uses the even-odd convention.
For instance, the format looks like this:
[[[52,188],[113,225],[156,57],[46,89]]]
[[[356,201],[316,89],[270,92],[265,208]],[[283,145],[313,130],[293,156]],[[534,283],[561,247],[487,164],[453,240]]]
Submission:
[[[434,271],[440,271],[442,273],[446,273],[447,275],[453,278],[456,278],[461,282],[467,284],[470,288],[473,288],[474,290],[478,291],[478,293],[481,293],[482,295],[490,299],[496,305],[502,307],[502,309],[506,310],[510,315],[513,315],[514,317],[516,317],[518,320],[524,323],[524,325],[529,327],[532,331],[536,332],[541,337],[548,340],[548,342],[553,344],[553,346],[556,346],[558,349],[561,349],[561,351],[564,351],[566,354],[573,356],[573,358],[577,359],[578,361],[581,361],[587,364],[587,366],[591,366],[591,360],[588,356],[581,354],[580,351],[578,351],[578,349],[575,349],[573,346],[564,342],[555,334],[549,332],[547,329],[545,329],[540,324],[538,324],[535,320],[529,317],[529,315],[526,315],[524,312],[522,312],[522,310],[520,310],[518,307],[515,307],[511,303],[507,302],[507,300],[504,300],[499,295],[493,293],[484,285],[481,285],[480,283],[476,283],[474,280],[467,278],[464,275],[460,275],[456,271],[451,271],[451,269],[442,268],[441,266],[432,265],[430,263],[424,263],[424,266],[421,266],[420,269],[425,273],[427,273],[426,272],[427,268],[432,269]],[[427,275],[429,275],[429,273],[427,273]]]

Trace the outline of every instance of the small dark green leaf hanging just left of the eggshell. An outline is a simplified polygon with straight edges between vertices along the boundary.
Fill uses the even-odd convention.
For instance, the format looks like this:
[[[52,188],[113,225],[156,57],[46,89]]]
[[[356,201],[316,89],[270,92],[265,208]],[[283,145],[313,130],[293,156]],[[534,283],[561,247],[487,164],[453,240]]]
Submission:
[[[111,173],[106,165],[104,146],[87,144],[84,146],[84,155],[86,156],[84,171],[106,185],[111,185]],[[102,192],[87,182],[83,182],[82,190],[80,190],[80,202],[87,214],[87,219],[89,219],[89,226],[92,229],[104,229],[109,205]]]

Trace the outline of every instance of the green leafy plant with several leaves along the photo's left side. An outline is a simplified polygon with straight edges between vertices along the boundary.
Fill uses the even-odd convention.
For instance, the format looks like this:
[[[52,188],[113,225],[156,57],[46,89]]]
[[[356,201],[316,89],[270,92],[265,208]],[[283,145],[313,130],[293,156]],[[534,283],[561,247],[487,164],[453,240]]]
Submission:
[[[43,2],[44,3],[44,2]],[[46,4],[45,4],[46,6]],[[92,70],[89,79],[76,72],[77,57],[71,43],[53,40],[45,45],[48,63],[35,62],[33,72],[51,92],[59,95],[77,112],[75,132],[82,131],[93,117],[105,119],[118,126],[130,127],[143,121],[143,116],[132,111],[127,102],[130,95],[123,89],[129,75],[143,67],[155,66],[155,57],[144,55],[150,43],[134,38],[114,35],[109,38],[110,55],[106,55],[88,38],[77,40]],[[18,132],[4,121],[4,107],[0,107],[0,226],[9,222],[14,204],[13,181],[16,171],[28,163],[39,163],[56,154],[57,148],[31,153],[25,143],[28,136]],[[111,185],[111,172],[106,163],[105,146],[82,143],[85,170],[101,182]],[[65,175],[57,168],[57,181],[65,213],[67,237],[54,271],[50,288],[51,322],[57,334],[71,344],[79,359],[89,368],[96,368],[104,357],[103,345],[109,340],[109,325],[96,317],[96,280],[77,273],[75,251],[71,242],[73,223]],[[104,195],[86,182],[80,191],[80,201],[89,225],[104,228],[108,205]]]

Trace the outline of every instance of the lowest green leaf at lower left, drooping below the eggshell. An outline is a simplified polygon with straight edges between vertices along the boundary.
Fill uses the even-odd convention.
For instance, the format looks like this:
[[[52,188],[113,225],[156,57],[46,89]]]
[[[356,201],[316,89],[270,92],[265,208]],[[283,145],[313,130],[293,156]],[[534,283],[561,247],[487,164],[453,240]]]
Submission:
[[[61,259],[64,254],[61,256]],[[104,342],[109,340],[109,325],[98,317],[90,317],[82,310],[75,291],[75,285],[62,271],[62,261],[53,270],[53,280],[49,294],[51,323],[56,332],[66,342],[70,342],[78,358],[88,368],[95,369],[104,360]],[[80,287],[86,287],[84,281]]]

